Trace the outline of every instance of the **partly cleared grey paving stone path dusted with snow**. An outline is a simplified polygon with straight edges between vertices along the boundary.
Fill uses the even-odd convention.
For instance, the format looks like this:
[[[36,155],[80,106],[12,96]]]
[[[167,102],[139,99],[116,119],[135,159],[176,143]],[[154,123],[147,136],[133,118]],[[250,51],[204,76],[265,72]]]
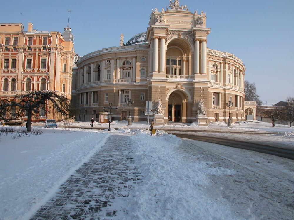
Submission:
[[[109,136],[31,220],[112,219],[117,210],[111,204],[127,197],[141,177],[130,158],[130,145],[129,136]]]

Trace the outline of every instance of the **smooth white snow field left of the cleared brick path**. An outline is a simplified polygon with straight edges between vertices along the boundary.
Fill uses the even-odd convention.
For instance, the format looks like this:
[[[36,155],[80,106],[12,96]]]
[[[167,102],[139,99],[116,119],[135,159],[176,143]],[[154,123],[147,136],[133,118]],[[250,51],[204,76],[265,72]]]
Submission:
[[[101,131],[40,130],[42,135],[19,139],[1,135],[0,219],[29,219],[108,137]]]

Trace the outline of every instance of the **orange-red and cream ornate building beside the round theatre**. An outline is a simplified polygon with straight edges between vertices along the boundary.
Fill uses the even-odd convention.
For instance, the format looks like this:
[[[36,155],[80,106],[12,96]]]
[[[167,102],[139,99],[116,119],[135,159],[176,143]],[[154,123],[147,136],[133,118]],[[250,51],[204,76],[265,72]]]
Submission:
[[[13,99],[31,90],[53,90],[71,99],[74,62],[73,35],[37,31],[33,24],[0,24],[0,99]],[[43,106],[33,121],[60,120],[50,106]],[[26,119],[24,115],[24,119]]]

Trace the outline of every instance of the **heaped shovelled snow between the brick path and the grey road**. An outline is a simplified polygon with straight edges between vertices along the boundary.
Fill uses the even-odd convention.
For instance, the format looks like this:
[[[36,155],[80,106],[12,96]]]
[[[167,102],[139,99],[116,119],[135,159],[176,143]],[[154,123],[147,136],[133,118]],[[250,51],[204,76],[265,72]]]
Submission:
[[[224,200],[210,199],[205,192],[207,175],[232,171],[186,158],[177,147],[181,139],[174,135],[138,133],[131,139],[143,177],[122,204],[125,219],[235,219]]]

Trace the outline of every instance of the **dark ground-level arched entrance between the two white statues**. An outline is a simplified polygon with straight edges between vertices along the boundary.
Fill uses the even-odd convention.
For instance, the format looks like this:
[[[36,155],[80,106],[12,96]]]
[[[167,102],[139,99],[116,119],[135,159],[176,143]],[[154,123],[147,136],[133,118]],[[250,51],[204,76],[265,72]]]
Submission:
[[[186,122],[187,97],[181,90],[173,91],[168,97],[168,121]]]

